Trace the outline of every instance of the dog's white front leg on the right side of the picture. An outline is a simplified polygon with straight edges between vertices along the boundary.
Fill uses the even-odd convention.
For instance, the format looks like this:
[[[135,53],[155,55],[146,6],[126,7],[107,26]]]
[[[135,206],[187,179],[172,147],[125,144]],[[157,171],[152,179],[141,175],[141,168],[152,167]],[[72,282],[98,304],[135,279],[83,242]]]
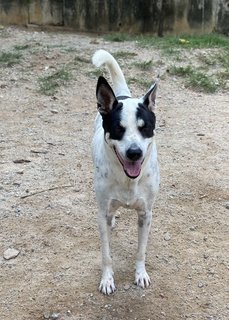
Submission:
[[[150,277],[145,269],[145,255],[151,220],[151,210],[146,212],[138,212],[138,252],[135,271],[135,284],[142,288],[146,288],[150,285]]]

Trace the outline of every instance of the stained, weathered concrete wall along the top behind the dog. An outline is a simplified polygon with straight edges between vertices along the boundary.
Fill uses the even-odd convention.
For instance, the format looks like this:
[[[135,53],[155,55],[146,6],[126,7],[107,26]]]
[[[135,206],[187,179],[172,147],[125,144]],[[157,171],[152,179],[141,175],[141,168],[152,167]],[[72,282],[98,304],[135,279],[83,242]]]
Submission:
[[[0,24],[77,31],[229,33],[229,0],[0,0]]]

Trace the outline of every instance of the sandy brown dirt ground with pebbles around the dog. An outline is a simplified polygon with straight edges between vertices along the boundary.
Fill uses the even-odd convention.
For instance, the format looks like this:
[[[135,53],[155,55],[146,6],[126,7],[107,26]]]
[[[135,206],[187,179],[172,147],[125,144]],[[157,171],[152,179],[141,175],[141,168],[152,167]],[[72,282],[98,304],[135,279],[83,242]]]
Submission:
[[[90,149],[96,76],[88,61],[99,48],[134,52],[119,62],[135,77],[134,61],[164,59],[163,70],[170,61],[135,42],[1,30],[1,51],[15,46],[21,62],[0,69],[0,319],[229,319],[228,93],[194,92],[164,73],[161,188],[147,252],[152,284],[133,284],[137,217],[121,209],[112,236],[117,291],[104,296]],[[38,78],[67,64],[72,80],[54,95],[40,93]],[[18,256],[6,260],[8,248]]]

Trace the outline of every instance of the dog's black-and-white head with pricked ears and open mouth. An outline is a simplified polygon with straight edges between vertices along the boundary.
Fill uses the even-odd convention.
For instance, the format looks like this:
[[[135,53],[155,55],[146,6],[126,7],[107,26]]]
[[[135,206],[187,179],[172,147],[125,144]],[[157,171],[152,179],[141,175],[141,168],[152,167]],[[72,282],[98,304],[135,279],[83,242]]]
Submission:
[[[140,99],[115,97],[106,79],[98,79],[96,96],[105,141],[132,179],[140,175],[154,136],[156,88],[154,83]]]

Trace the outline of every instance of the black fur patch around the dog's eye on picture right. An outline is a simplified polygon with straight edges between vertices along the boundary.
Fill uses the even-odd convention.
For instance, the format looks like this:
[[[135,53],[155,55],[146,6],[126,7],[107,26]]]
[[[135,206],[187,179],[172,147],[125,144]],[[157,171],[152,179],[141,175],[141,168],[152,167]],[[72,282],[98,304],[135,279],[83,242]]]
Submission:
[[[145,106],[142,103],[139,103],[136,117],[137,120],[142,119],[144,121],[144,126],[138,128],[143,138],[151,138],[154,135],[153,132],[156,125],[155,114],[152,111],[150,111],[147,106]]]

